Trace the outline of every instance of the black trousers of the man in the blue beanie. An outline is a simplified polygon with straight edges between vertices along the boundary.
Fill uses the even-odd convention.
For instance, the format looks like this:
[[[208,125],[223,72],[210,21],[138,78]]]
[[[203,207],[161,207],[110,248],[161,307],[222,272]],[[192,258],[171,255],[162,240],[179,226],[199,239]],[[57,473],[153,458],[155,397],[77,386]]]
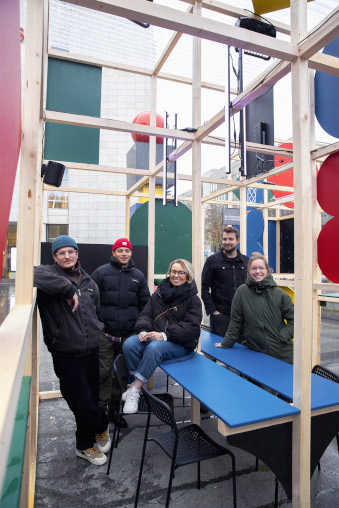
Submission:
[[[75,416],[76,447],[86,450],[94,445],[95,435],[108,427],[107,415],[98,405],[99,348],[86,356],[52,356],[61,394]]]

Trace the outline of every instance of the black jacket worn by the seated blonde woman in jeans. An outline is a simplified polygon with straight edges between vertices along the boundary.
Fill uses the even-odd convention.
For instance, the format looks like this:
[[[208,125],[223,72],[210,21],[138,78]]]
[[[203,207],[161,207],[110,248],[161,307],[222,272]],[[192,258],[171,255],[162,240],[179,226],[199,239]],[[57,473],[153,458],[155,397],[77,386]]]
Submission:
[[[165,332],[167,340],[193,351],[198,344],[202,320],[197,285],[195,281],[186,283],[186,292],[168,303],[163,298],[163,285],[166,283],[167,279],[163,280],[147,302],[135,323],[135,330],[137,333]]]

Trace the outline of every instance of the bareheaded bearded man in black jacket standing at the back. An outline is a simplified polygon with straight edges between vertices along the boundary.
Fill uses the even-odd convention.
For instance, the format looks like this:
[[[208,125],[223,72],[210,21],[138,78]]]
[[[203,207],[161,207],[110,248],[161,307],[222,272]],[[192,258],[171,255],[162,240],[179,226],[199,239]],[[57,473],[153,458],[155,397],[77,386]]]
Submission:
[[[230,322],[233,296],[247,276],[248,257],[237,246],[239,231],[231,226],[223,231],[220,252],[206,259],[201,280],[201,297],[206,314],[210,315],[210,330],[224,337]]]

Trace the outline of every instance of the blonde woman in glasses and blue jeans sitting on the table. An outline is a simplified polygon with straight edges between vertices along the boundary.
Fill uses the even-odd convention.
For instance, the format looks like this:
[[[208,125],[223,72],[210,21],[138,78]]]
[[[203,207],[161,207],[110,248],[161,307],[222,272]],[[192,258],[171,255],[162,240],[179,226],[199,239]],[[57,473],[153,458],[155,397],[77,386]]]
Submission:
[[[166,278],[136,321],[138,335],[125,341],[123,352],[135,381],[122,395],[124,413],[138,411],[141,387],[163,360],[185,356],[196,348],[202,305],[193,277],[188,261],[172,261]]]

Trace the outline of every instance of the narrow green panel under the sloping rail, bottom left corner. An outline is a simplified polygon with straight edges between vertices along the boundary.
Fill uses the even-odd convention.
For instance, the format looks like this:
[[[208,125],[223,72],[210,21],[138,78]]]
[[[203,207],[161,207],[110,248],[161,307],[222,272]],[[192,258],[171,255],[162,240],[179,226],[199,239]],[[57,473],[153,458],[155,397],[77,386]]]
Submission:
[[[16,508],[19,506],[30,387],[31,378],[29,376],[23,377],[8,455],[6,476],[2,488],[0,508]]]

